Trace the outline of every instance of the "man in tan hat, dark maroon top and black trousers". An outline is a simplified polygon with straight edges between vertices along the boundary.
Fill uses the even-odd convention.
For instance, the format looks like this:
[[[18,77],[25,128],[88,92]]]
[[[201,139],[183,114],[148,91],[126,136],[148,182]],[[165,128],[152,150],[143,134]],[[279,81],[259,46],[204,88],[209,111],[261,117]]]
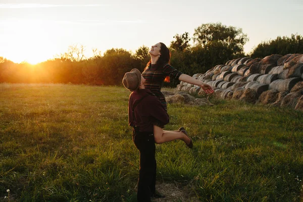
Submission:
[[[159,99],[144,87],[145,79],[138,69],[127,72],[123,85],[132,93],[128,102],[128,122],[133,127],[133,142],[140,152],[138,201],[150,201],[150,197],[164,197],[156,191],[156,146],[153,125],[164,127],[169,116]]]

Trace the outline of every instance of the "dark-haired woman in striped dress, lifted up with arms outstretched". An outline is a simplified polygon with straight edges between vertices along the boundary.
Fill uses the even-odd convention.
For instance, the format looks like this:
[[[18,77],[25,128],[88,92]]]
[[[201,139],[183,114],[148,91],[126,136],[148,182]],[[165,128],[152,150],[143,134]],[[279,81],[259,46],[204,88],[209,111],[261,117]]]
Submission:
[[[173,79],[179,79],[180,81],[184,81],[186,83],[198,85],[206,93],[214,92],[213,88],[209,84],[194,79],[191,76],[183,74],[178,70],[176,70],[175,68],[173,68],[169,64],[171,57],[170,51],[164,43],[160,42],[151,46],[149,55],[150,55],[150,60],[147,63],[144,71],[142,72],[142,76],[145,79],[144,86],[145,88],[153,92],[156,95],[156,97],[158,97],[158,99],[160,100],[161,104],[163,105],[166,111],[167,111],[167,104],[166,104],[165,96],[161,92],[161,87],[162,87],[162,82],[163,81],[169,82],[170,77]],[[183,129],[184,128],[181,128],[181,130]],[[175,132],[181,132],[181,130],[179,129],[178,131]],[[182,132],[186,133],[186,131],[182,131]],[[156,143],[164,143],[171,141],[173,139],[171,131],[170,133],[167,132],[167,135],[165,135],[165,133],[166,131],[163,131],[163,127],[161,125],[157,125],[157,124],[154,125],[154,135],[155,135]],[[191,141],[190,144],[192,144]]]

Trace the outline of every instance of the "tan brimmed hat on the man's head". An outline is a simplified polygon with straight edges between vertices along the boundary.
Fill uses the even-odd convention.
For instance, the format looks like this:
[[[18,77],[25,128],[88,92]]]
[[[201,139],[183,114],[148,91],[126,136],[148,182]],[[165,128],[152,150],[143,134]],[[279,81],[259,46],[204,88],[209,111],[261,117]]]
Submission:
[[[141,83],[140,71],[138,69],[132,69],[130,72],[126,72],[122,83],[130,91],[136,91]]]

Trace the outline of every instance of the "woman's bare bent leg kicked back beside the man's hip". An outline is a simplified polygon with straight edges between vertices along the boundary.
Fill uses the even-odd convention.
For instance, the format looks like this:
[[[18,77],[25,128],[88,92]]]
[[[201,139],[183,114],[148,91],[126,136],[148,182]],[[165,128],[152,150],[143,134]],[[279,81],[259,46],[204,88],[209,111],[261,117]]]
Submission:
[[[181,139],[186,144],[189,144],[189,142],[190,142],[190,138],[187,137],[187,135],[185,135],[184,133],[172,132],[172,131],[168,131],[168,130],[163,132],[163,128],[160,128],[159,126],[156,126],[156,125],[154,125],[154,137],[155,137],[155,142],[157,144],[162,144],[164,142],[169,142],[169,141],[176,140],[176,139]]]

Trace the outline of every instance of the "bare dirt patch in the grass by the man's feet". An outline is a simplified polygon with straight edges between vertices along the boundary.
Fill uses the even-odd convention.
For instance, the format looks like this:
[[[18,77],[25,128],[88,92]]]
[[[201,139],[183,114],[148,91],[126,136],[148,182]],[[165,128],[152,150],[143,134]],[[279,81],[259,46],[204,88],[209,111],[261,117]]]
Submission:
[[[155,198],[151,201],[199,201],[196,194],[189,186],[182,186],[177,182],[156,184],[156,189],[164,194],[165,198]]]

